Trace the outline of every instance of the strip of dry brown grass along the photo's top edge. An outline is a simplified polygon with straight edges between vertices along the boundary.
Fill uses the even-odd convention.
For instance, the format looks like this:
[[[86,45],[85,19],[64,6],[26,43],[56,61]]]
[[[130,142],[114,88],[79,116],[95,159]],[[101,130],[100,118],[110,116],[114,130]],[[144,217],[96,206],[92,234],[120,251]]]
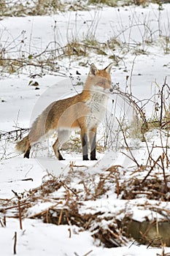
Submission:
[[[163,2],[169,2],[168,0],[152,0],[152,3],[161,5]],[[49,15],[56,12],[66,12],[68,10],[78,11],[78,10],[89,10],[89,6],[94,5],[94,7],[120,7],[124,5],[136,4],[146,6],[150,4],[149,0],[88,0],[88,1],[61,1],[61,0],[34,0],[34,1],[0,1],[0,15],[3,16],[25,16],[25,15]]]

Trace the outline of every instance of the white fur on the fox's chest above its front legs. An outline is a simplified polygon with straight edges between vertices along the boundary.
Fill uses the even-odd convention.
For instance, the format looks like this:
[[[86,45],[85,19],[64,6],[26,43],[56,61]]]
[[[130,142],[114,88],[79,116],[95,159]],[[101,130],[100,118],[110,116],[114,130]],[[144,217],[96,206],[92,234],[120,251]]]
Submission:
[[[89,113],[86,118],[86,126],[88,129],[98,127],[98,124],[103,121],[107,110],[108,97],[106,94],[95,92],[91,94],[90,99],[86,102]]]

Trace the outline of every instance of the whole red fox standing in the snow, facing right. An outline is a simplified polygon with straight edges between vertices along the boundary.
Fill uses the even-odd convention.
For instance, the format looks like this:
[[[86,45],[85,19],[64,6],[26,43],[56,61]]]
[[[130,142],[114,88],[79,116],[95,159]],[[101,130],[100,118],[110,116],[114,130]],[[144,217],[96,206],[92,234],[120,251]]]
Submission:
[[[28,135],[20,140],[16,149],[29,158],[31,146],[57,130],[58,139],[53,144],[55,156],[63,160],[60,148],[69,139],[73,129],[80,129],[82,159],[96,160],[96,129],[107,110],[108,94],[112,91],[110,72],[112,64],[105,69],[90,65],[90,72],[80,94],[51,103],[34,121]]]

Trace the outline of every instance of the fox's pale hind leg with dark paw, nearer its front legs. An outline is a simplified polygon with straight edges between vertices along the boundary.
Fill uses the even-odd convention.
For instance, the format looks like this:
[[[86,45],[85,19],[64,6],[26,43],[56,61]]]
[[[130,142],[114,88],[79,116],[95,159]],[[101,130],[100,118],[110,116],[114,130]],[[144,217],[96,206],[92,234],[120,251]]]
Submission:
[[[55,153],[55,156],[58,158],[58,160],[65,160],[63,159],[60,148],[67,140],[69,140],[69,136],[71,134],[71,131],[68,129],[58,129],[58,139],[53,144],[53,151]]]

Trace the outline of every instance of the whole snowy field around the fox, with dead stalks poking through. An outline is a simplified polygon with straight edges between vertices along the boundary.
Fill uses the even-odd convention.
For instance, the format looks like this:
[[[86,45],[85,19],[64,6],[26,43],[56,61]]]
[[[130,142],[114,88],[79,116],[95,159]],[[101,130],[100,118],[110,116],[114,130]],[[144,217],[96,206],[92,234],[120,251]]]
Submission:
[[[138,128],[131,128],[134,105],[129,103],[132,94],[146,120],[156,120],[161,111],[161,89],[166,83],[163,111],[169,110],[169,17],[170,4],[163,4],[161,10],[158,4],[150,4],[144,8],[91,6],[87,11],[1,18],[0,255],[13,255],[15,249],[22,256],[169,255],[169,247],[142,245],[134,238],[125,238],[121,227],[116,226],[125,217],[138,222],[169,220],[169,130],[152,127],[143,140]],[[89,43],[88,55],[66,54],[65,45],[75,39],[81,42],[82,51]],[[99,46],[91,47],[92,39]],[[114,46],[111,42],[115,42]],[[74,44],[74,52],[81,50],[76,47]],[[96,48],[105,54],[96,52]],[[58,58],[54,57],[50,69],[52,52]],[[3,58],[7,66],[1,62]],[[17,59],[27,60],[26,65],[22,62],[19,67]],[[50,65],[46,65],[48,59]],[[44,68],[41,61],[46,61]],[[66,160],[59,162],[52,151],[56,135],[35,146],[30,159],[23,159],[15,151],[20,129],[31,127],[50,102],[81,91],[79,82],[85,80],[90,64],[102,69],[111,62],[115,94],[109,96],[107,118],[110,121],[113,117],[114,121],[109,123],[107,119],[98,129],[98,161],[83,162],[81,151],[69,148],[63,149]],[[119,90],[128,97],[120,97]],[[122,118],[129,122],[127,127],[125,123],[119,126],[117,120]],[[112,124],[112,132],[104,148],[108,124]],[[77,143],[74,137],[70,140],[72,148]],[[146,187],[139,184],[134,192],[137,179]],[[155,182],[152,187],[147,184],[150,179]],[[155,196],[156,182],[159,186]],[[81,226],[75,220],[80,215],[72,219],[64,215],[65,211],[83,217],[91,215]],[[58,225],[51,224],[50,217],[56,218]],[[103,240],[97,232],[102,233]],[[115,246],[106,246],[104,232]],[[161,236],[157,232],[150,239]]]

